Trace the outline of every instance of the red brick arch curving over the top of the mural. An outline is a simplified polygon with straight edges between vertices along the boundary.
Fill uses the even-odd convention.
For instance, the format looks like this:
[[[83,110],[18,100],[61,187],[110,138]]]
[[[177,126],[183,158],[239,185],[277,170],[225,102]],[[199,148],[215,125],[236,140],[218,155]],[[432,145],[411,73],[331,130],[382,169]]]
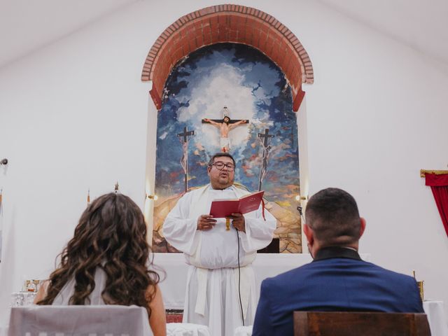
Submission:
[[[302,83],[313,83],[311,60],[299,39],[273,16],[239,5],[217,5],[195,10],[170,25],[155,41],[141,73],[152,80],[151,97],[162,108],[162,92],[170,71],[179,62],[206,45],[242,43],[260,50],[285,73],[293,92],[293,110],[304,97]]]

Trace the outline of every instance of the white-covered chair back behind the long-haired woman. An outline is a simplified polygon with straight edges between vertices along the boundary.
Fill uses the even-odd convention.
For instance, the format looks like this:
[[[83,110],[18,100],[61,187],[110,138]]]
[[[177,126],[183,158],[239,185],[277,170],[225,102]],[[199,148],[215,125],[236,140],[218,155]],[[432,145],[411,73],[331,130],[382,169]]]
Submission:
[[[152,336],[148,313],[137,306],[11,308],[8,336]]]

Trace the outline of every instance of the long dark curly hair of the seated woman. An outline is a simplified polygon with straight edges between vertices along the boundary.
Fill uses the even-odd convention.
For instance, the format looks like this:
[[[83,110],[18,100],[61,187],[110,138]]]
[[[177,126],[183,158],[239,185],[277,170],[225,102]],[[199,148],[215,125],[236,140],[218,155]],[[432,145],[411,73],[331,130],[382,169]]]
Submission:
[[[160,278],[148,269],[150,251],[144,216],[137,204],[119,193],[98,197],[81,215],[73,238],[60,254],[59,267],[50,275],[47,295],[37,304],[52,304],[73,277],[76,284],[69,304],[89,304],[99,267],[106,274],[104,303],[136,304],[151,315],[148,303]],[[153,290],[148,291],[151,286]]]

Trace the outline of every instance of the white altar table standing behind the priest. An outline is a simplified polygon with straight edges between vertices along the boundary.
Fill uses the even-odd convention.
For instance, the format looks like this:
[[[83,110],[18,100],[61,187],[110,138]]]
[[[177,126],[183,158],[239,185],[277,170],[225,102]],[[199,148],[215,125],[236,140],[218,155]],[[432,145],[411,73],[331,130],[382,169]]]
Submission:
[[[370,260],[370,254],[361,254],[360,257],[363,260]],[[309,253],[258,253],[252,264],[255,272],[257,301],[260,296],[262,280],[311,261]],[[154,253],[153,263],[155,267],[160,267],[165,271],[165,274],[160,272],[159,284],[165,309],[183,309],[188,272],[188,265],[183,253]]]

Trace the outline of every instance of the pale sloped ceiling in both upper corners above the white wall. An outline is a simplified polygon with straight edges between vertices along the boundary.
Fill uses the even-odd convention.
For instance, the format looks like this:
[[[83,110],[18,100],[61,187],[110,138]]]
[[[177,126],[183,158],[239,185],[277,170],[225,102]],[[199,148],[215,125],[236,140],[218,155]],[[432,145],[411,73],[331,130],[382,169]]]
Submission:
[[[0,68],[137,1],[0,0]],[[318,1],[448,66],[447,0]]]

